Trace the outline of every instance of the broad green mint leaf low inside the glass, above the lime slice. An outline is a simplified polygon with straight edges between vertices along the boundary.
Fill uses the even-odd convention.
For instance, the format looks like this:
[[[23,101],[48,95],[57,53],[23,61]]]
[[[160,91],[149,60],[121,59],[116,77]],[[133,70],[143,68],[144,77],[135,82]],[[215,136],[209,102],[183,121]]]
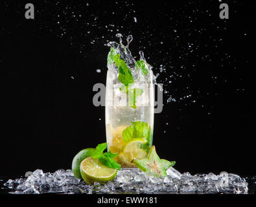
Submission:
[[[146,138],[148,140],[149,131],[150,126],[148,123],[143,121],[132,122],[132,125],[122,131],[122,138],[124,142],[128,142],[134,138]]]

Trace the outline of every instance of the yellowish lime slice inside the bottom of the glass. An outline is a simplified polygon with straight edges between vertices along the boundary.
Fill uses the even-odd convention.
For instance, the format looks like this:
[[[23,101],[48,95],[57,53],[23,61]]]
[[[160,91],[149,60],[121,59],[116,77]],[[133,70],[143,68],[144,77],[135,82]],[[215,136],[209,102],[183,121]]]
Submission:
[[[124,168],[135,168],[136,166],[132,163],[132,160],[146,157],[146,150],[143,149],[146,143],[147,142],[142,138],[136,138],[127,142],[117,157],[121,166]]]

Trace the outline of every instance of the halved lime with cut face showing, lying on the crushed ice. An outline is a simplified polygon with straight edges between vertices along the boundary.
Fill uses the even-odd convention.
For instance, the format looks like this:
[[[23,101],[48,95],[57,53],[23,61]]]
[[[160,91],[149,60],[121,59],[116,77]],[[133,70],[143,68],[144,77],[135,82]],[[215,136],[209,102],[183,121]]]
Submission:
[[[80,173],[87,184],[94,182],[107,182],[115,179],[117,169],[104,166],[98,159],[88,157],[80,164]]]

